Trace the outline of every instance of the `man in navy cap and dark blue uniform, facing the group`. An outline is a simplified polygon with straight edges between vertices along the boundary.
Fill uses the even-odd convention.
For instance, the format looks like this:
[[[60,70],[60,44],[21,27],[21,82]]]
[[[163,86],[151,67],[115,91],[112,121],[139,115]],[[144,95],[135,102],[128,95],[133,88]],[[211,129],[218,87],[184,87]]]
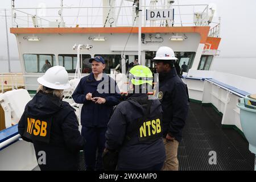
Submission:
[[[103,169],[101,156],[105,148],[107,124],[113,106],[119,103],[121,97],[117,83],[103,73],[105,60],[96,56],[89,62],[92,63],[92,73],[81,78],[72,94],[76,103],[84,104],[81,110],[81,134],[87,142],[84,153],[88,171]]]

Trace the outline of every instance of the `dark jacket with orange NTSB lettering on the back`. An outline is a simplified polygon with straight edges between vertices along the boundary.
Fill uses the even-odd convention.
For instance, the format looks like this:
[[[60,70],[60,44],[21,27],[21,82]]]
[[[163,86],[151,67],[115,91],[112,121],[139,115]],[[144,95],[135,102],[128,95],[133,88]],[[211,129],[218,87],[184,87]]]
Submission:
[[[30,118],[34,118],[34,121],[39,119],[40,122],[38,125],[34,122],[29,127]],[[47,126],[46,130],[42,129],[43,122],[47,122],[47,125],[44,125]],[[40,134],[36,133],[40,130],[40,126],[42,126],[40,134],[46,133],[41,139],[48,138],[48,141],[38,138]],[[27,134],[28,128],[31,134]],[[84,148],[85,139],[79,132],[75,111],[67,102],[61,101],[52,94],[38,92],[26,105],[18,124],[18,131],[24,140],[34,144],[36,158],[39,161],[40,158],[42,159],[39,152],[46,152],[46,164],[39,164],[41,170],[79,169],[79,151]]]

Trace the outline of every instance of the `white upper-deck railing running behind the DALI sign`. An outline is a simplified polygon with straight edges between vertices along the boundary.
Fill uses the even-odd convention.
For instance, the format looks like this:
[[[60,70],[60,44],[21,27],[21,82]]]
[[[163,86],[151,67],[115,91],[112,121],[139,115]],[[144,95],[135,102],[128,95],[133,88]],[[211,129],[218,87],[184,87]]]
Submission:
[[[146,21],[146,9],[166,9],[167,6],[141,6],[142,26],[214,26],[209,22],[208,5],[172,5],[174,21]],[[103,13],[114,9],[114,14],[106,20]],[[93,7],[14,7],[12,27],[131,27],[136,16],[135,6],[93,6]],[[44,12],[44,13],[42,13]],[[47,14],[46,14],[47,12]],[[79,12],[79,13],[77,13]],[[197,17],[197,18],[195,18]],[[112,19],[110,21],[110,19]],[[106,20],[106,21],[105,21]],[[211,24],[210,24],[211,23]],[[137,27],[137,22],[135,27]]]

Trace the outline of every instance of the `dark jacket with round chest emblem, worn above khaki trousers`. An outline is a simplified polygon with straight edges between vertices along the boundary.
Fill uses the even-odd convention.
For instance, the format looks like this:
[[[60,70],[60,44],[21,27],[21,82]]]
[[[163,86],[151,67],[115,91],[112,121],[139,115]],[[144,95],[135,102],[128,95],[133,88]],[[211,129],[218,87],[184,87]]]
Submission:
[[[159,79],[159,93],[156,97],[163,109],[163,137],[168,133],[180,142],[189,104],[186,85],[177,76],[175,69],[171,69],[163,80]]]

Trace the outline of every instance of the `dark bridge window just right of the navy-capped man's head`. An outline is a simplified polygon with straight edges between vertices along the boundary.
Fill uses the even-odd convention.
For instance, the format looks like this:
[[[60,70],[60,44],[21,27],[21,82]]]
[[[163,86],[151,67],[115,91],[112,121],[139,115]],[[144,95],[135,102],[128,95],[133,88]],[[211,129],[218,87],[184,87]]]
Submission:
[[[122,72],[122,63],[121,63],[121,55],[94,55],[95,56],[102,56],[105,60],[106,67],[105,67],[105,73],[110,74],[110,69],[114,69],[117,67],[118,64],[120,64],[120,67],[118,68],[118,71]]]

